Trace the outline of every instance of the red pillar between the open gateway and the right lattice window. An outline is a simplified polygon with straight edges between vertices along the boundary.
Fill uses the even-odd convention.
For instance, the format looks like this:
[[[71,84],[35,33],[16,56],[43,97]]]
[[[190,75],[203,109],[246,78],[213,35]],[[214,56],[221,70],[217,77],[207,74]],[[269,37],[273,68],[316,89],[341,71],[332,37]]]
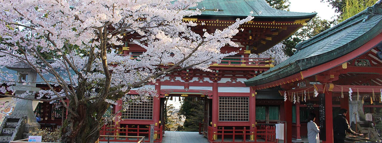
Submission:
[[[219,97],[217,81],[212,84],[212,133],[217,133],[217,122],[219,121]]]

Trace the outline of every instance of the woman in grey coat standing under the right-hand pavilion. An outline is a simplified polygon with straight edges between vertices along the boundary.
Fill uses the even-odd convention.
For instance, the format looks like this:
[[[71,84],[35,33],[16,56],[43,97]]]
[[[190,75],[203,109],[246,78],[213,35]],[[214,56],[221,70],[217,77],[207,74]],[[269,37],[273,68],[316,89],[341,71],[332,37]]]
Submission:
[[[314,123],[314,120],[316,120],[316,114],[311,113],[309,114],[309,122],[308,122],[308,141],[309,143],[319,143],[320,137],[318,133],[320,132],[319,127],[317,127],[317,124]]]

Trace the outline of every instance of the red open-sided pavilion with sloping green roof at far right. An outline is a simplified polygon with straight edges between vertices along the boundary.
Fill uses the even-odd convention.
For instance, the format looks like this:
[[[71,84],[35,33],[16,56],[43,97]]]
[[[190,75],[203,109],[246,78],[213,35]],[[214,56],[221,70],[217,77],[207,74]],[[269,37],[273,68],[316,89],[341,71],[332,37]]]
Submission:
[[[369,108],[382,107],[381,4],[299,43],[286,61],[244,81],[256,91],[282,89],[282,110],[291,112],[282,117],[289,123],[288,142],[306,136],[307,112],[319,115],[320,140],[332,143],[333,117],[340,108],[348,110],[351,123],[367,120],[363,112],[372,112]]]

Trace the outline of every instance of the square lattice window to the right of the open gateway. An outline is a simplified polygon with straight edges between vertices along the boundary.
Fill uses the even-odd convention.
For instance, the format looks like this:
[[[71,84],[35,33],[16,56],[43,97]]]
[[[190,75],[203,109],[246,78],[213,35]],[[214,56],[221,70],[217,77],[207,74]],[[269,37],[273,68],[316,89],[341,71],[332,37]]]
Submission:
[[[219,97],[219,121],[249,121],[249,98]]]

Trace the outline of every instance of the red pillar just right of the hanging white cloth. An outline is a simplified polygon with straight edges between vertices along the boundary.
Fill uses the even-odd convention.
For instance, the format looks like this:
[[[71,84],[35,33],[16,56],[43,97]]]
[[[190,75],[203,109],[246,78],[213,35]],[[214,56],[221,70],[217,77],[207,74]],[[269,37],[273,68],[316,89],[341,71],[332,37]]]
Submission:
[[[284,102],[284,113],[285,113],[285,121],[286,121],[286,143],[292,142],[292,102],[285,101]]]

